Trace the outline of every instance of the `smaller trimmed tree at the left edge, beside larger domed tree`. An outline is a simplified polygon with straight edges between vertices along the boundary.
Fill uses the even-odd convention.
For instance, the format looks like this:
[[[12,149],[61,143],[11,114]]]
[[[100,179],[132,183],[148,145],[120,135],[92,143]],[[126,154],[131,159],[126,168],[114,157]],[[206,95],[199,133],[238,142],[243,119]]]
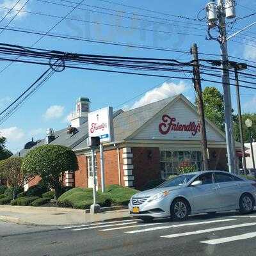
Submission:
[[[26,172],[26,170],[22,170],[21,166],[22,157],[9,157],[0,161],[0,177],[13,188],[13,199],[16,198],[17,191],[33,179],[33,175]]]

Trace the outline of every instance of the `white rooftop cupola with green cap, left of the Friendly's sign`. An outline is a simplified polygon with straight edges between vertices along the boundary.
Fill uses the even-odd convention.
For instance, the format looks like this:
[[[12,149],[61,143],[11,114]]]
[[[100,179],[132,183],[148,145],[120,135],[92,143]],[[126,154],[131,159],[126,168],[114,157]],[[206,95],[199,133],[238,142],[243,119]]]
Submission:
[[[71,126],[78,128],[84,124],[89,112],[90,100],[86,97],[79,97],[76,100],[76,113],[74,113],[71,118]]]

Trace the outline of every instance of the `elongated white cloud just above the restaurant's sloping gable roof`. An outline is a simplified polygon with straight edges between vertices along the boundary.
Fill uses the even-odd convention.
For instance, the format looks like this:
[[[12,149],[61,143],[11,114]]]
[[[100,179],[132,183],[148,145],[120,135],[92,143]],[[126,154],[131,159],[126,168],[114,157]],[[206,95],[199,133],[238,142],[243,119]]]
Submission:
[[[147,92],[140,100],[134,102],[134,104],[130,108],[125,106],[125,109],[139,108],[152,102],[156,102],[158,100],[163,100],[168,97],[184,93],[187,89],[188,86],[183,81],[180,81],[180,83],[178,84],[165,82],[160,87],[157,87]]]

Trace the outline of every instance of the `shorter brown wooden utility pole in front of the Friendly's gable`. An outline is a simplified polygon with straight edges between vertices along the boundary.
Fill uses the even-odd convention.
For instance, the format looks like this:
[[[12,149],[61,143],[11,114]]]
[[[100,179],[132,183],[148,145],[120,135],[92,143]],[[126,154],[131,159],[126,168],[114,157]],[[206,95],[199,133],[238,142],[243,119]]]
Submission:
[[[202,96],[202,86],[201,86],[201,77],[198,61],[198,48],[196,44],[193,44],[191,47],[191,54],[193,54],[194,65],[193,65],[193,74],[194,74],[194,87],[197,95],[197,108],[201,124],[201,141],[202,141],[202,156],[204,163],[204,171],[209,170],[209,161],[208,161],[208,148],[207,148],[207,137],[205,129],[205,118],[204,118],[204,102]]]

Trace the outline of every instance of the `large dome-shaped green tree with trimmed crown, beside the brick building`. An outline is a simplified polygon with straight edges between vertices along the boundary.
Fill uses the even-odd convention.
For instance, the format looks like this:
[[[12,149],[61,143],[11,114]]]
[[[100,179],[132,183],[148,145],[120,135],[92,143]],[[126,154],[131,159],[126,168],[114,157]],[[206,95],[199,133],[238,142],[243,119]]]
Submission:
[[[61,145],[42,145],[31,150],[22,163],[22,170],[39,175],[60,196],[65,172],[78,170],[76,154]]]

